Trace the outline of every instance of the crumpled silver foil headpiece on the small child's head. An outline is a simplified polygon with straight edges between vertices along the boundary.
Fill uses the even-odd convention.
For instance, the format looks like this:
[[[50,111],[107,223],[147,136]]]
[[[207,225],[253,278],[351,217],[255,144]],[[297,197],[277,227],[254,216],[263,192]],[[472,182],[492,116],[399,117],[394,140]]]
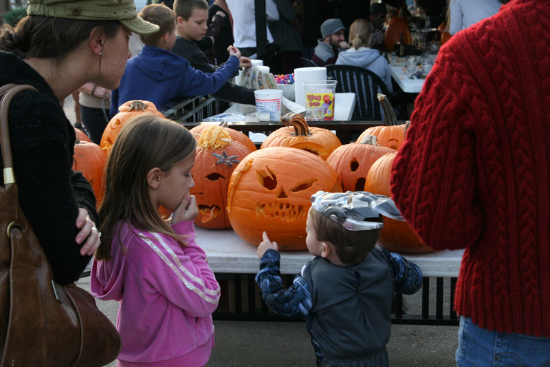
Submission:
[[[378,218],[380,214],[395,220],[404,220],[391,198],[369,191],[317,191],[311,196],[311,207],[349,231],[384,227],[384,223],[366,220]]]

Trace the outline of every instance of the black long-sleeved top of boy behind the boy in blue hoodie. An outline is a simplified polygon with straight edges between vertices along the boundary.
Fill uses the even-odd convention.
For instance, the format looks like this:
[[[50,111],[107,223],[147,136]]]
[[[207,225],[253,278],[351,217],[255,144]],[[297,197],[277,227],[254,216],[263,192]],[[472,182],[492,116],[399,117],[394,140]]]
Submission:
[[[183,37],[177,37],[174,48],[172,49],[174,54],[187,59],[192,67],[202,72],[215,72],[216,70],[212,65],[208,63],[208,59],[204,52],[202,52],[195,43],[184,39]],[[213,94],[214,97],[223,99],[224,101],[243,103],[245,105],[254,105],[254,90],[241,87],[228,81],[225,83],[218,92]]]

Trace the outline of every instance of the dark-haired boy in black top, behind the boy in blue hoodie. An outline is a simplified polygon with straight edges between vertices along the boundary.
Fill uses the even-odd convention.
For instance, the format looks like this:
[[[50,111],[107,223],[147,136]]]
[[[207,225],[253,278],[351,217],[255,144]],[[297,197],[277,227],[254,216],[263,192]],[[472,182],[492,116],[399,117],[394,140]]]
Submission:
[[[177,16],[177,39],[172,49],[174,54],[187,59],[192,67],[203,72],[212,73],[216,69],[210,65],[208,58],[202,52],[197,43],[201,41],[208,29],[208,3],[206,0],[176,0],[174,12]],[[221,17],[221,15],[214,15]],[[248,57],[241,56],[239,67],[251,66]],[[225,64],[224,64],[225,65]],[[224,101],[254,105],[254,90],[241,87],[227,81],[213,94],[214,97]]]

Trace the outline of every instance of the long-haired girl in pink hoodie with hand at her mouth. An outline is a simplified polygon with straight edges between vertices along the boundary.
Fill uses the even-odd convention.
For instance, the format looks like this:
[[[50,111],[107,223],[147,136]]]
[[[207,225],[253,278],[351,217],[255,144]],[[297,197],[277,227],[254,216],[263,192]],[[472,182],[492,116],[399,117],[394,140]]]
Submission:
[[[195,244],[195,145],[182,125],[142,114],[109,154],[90,289],[119,302],[118,366],[204,366],[210,357],[220,289]],[[173,211],[170,222],[159,205]]]

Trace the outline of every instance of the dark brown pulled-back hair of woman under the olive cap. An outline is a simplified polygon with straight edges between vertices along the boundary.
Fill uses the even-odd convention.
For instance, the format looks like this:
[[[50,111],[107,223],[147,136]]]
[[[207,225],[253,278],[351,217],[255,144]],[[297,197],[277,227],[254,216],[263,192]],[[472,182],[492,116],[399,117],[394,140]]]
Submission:
[[[61,60],[89,37],[95,28],[107,38],[118,33],[118,21],[80,21],[28,15],[15,28],[0,25],[0,50],[21,57]]]

